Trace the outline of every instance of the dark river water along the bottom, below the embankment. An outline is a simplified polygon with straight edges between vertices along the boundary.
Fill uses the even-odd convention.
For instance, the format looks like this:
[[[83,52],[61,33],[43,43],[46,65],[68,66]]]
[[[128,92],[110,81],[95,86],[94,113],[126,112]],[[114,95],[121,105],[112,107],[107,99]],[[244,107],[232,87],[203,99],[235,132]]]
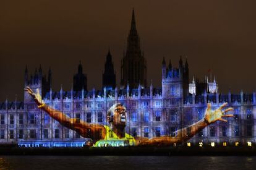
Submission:
[[[0,169],[254,169],[256,156],[0,156]]]

